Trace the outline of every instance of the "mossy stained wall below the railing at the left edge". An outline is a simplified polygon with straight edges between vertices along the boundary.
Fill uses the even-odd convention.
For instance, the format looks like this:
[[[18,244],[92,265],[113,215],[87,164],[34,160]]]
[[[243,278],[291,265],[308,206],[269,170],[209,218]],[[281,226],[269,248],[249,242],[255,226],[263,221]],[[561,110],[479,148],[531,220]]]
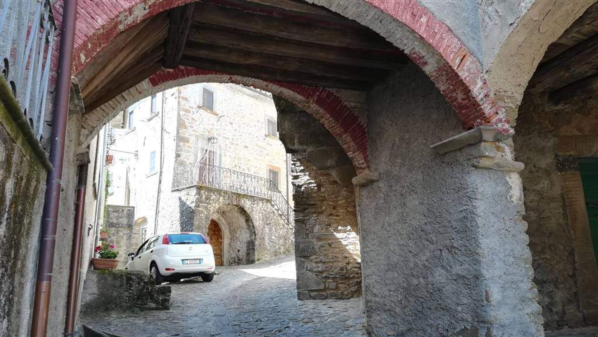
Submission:
[[[47,172],[0,104],[0,336],[28,336]]]

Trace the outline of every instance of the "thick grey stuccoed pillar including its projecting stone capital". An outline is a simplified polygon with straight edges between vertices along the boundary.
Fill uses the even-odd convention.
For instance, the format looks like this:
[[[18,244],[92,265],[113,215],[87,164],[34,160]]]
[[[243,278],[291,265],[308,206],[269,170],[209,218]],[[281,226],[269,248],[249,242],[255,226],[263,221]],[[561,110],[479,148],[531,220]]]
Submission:
[[[371,335],[544,336],[521,219],[523,164],[504,138],[480,127],[433,145],[440,168],[432,179],[424,171],[404,181],[383,172],[354,179],[363,185]],[[428,179],[437,183],[425,185]],[[379,201],[397,187],[398,203]]]

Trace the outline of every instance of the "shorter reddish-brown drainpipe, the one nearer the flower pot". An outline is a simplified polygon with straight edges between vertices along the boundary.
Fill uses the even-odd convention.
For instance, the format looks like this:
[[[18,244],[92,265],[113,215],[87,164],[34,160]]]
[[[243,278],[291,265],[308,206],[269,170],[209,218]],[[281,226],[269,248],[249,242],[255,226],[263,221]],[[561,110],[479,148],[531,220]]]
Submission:
[[[68,298],[66,299],[65,332],[72,336],[75,329],[77,299],[79,294],[79,271],[81,268],[81,246],[83,245],[83,215],[85,212],[85,192],[87,188],[87,164],[79,166],[79,182],[77,184],[77,212],[71,249],[71,274],[69,275]]]

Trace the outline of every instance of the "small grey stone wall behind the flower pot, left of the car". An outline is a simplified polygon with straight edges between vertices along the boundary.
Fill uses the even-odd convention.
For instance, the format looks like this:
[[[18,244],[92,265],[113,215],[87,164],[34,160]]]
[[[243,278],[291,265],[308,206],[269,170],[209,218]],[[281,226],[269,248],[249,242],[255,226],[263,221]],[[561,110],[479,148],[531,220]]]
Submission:
[[[106,229],[108,242],[118,250],[118,268],[129,262],[127,254],[136,252],[141,241],[139,223],[135,226],[135,207],[106,205]]]

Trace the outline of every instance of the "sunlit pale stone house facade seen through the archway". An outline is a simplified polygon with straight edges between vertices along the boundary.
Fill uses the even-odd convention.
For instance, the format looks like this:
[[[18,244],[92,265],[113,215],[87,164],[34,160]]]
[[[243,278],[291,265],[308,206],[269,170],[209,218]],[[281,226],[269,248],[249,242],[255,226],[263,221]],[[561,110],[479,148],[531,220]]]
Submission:
[[[107,219],[112,241],[127,242],[121,249],[134,252],[154,233],[207,234],[211,222],[217,227],[210,240],[221,243],[216,255],[224,265],[290,252],[292,219],[279,214],[269,199],[243,192],[242,184],[238,191],[205,186],[230,174],[273,179],[277,195],[289,200],[288,157],[277,137],[276,116],[269,93],[215,83],[166,90],[123,111],[111,121],[107,203],[110,210],[133,206],[130,228],[139,235],[117,234],[111,228],[117,223]],[[191,176],[185,176],[187,168],[195,170]],[[212,175],[197,180],[202,173]],[[181,185],[183,176],[192,180]],[[126,253],[120,259],[126,263]]]

